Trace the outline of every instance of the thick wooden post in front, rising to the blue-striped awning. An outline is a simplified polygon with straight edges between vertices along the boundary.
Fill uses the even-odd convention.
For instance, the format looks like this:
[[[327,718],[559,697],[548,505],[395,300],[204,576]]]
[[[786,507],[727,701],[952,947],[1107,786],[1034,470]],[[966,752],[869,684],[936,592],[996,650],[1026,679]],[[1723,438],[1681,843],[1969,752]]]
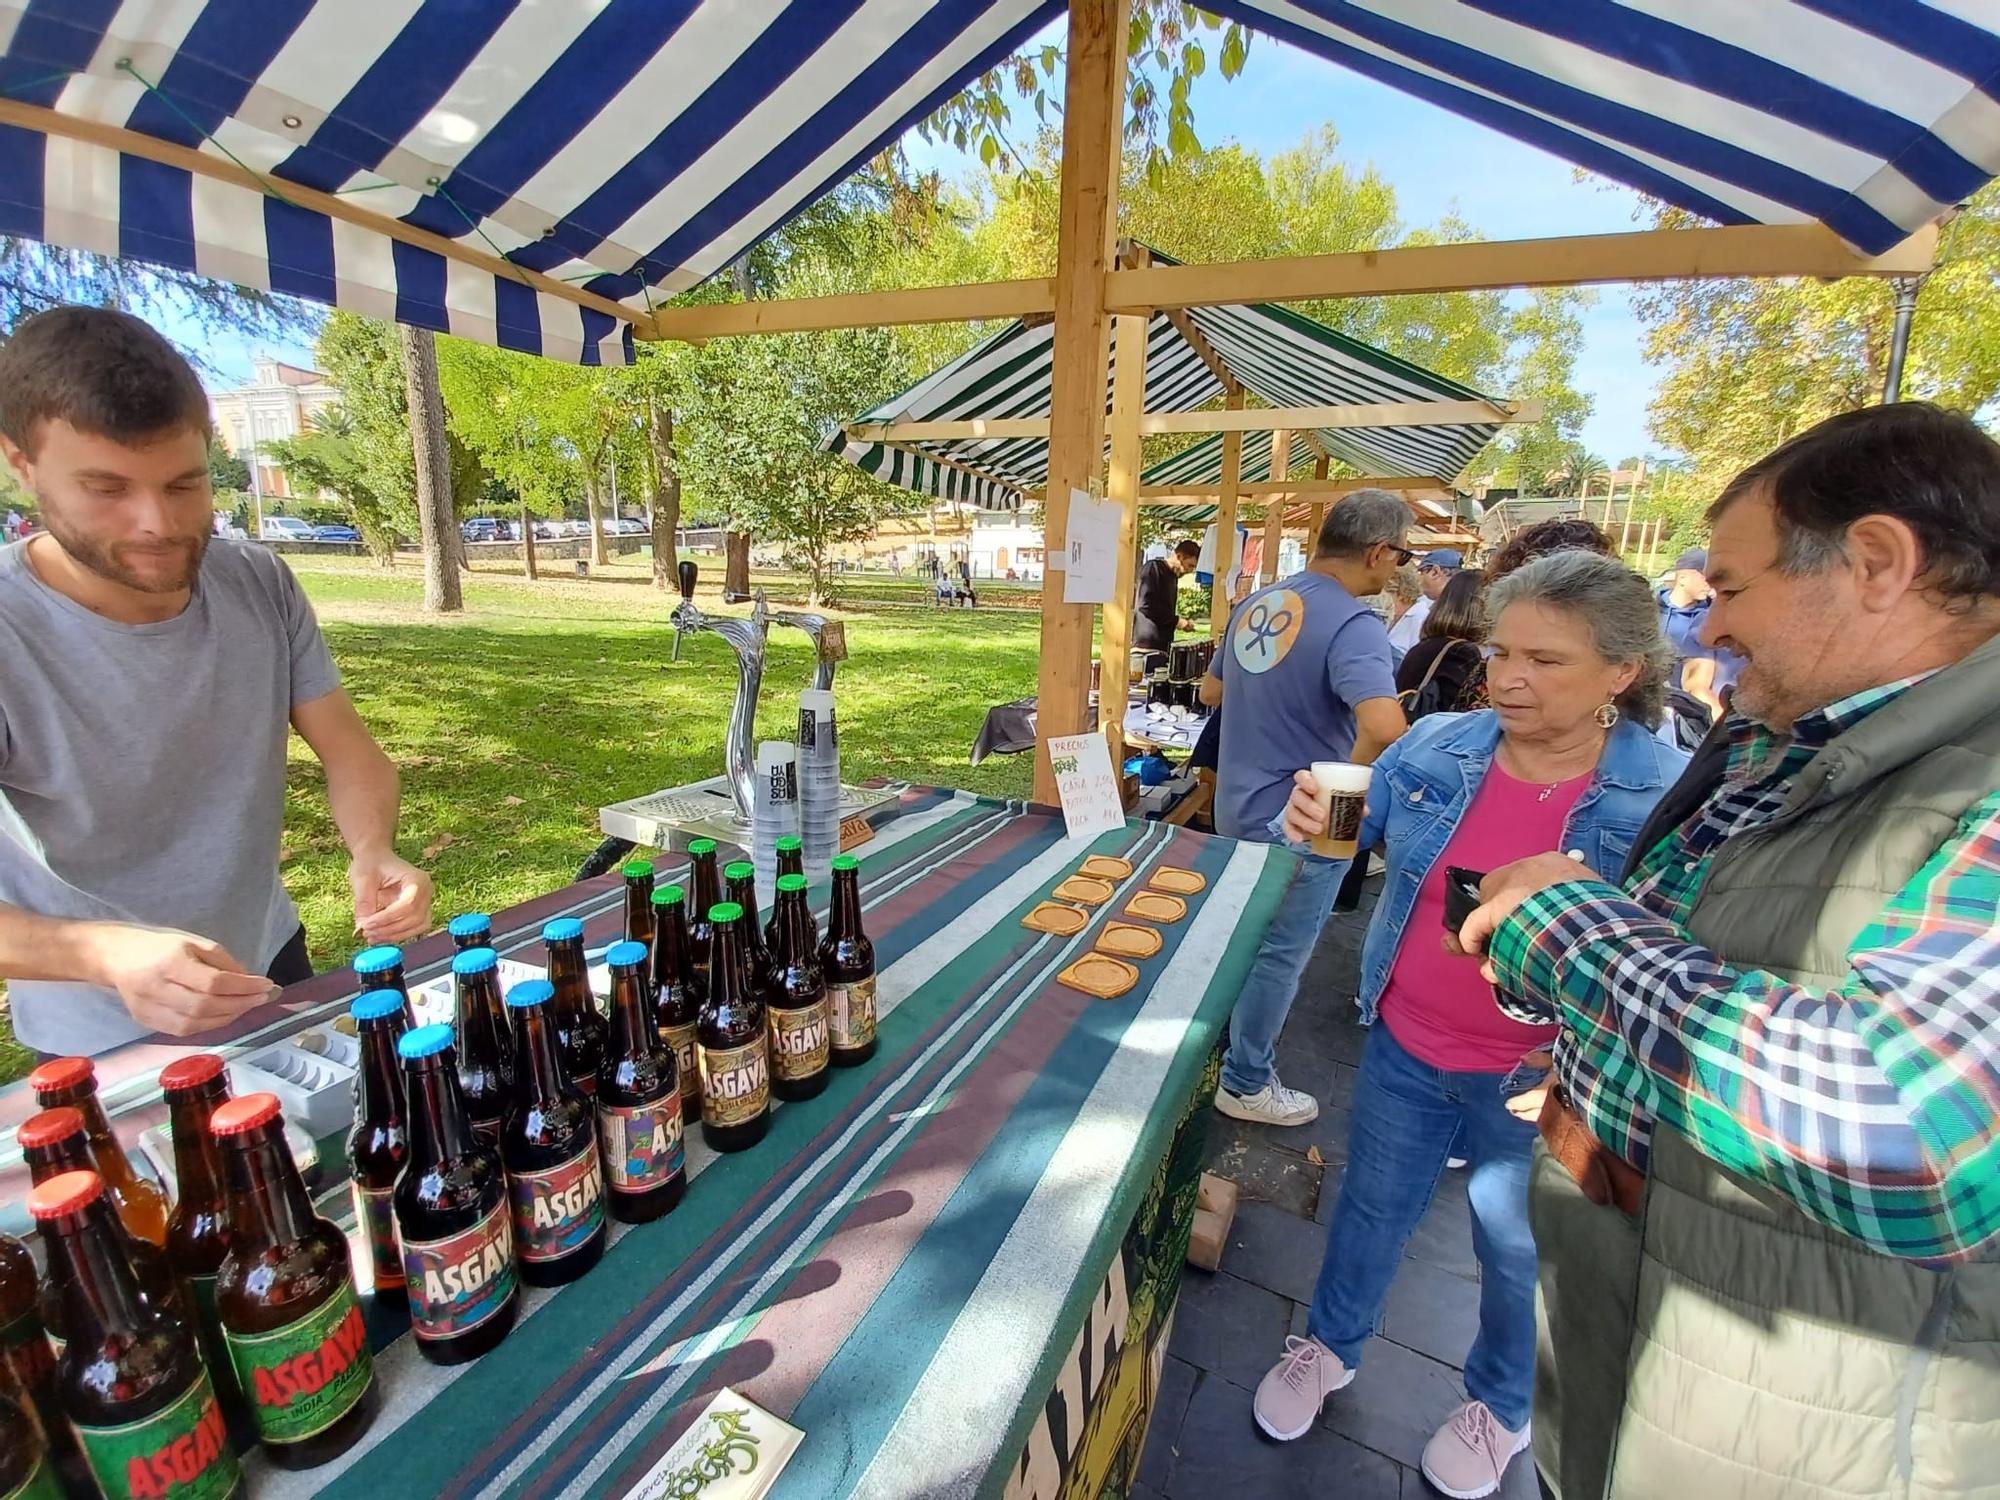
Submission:
[[[1048,556],[1070,540],[1070,490],[1104,464],[1104,272],[1118,236],[1118,144],[1124,138],[1130,0],[1070,0],[1062,84],[1062,196],[1056,208],[1056,328],[1050,352]],[[1080,734],[1090,708],[1090,606],[1062,602],[1062,578],[1042,590],[1042,666],[1034,798],[1056,802],[1048,736]],[[1120,682],[1124,680],[1120,668]]]

